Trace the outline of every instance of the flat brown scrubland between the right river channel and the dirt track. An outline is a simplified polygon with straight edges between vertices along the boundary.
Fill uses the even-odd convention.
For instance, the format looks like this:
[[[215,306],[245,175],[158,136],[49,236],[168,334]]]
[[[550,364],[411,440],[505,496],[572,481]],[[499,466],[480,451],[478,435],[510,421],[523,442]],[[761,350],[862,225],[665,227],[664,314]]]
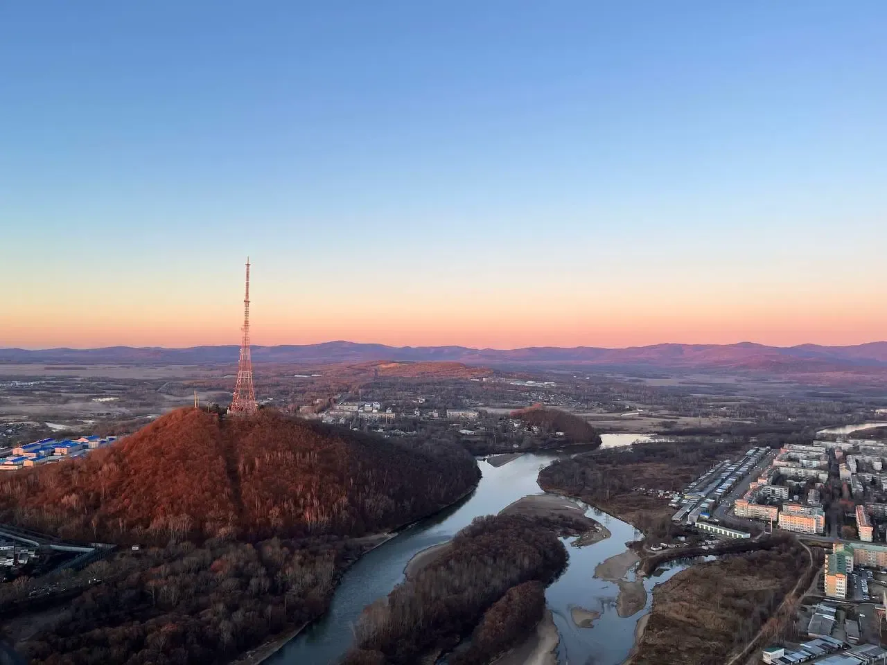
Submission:
[[[756,636],[808,562],[804,548],[786,539],[680,572],[655,588],[632,665],[721,665]]]

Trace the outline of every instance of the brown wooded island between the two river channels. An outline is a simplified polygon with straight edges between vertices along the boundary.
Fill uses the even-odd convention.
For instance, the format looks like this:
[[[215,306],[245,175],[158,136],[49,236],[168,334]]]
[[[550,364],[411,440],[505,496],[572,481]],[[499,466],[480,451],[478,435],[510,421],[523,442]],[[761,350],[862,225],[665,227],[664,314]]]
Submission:
[[[477,518],[443,556],[365,608],[345,663],[412,665],[451,649],[509,589],[531,581],[544,586],[566,563],[561,542],[538,522],[519,515]],[[478,653],[484,657],[526,635],[538,595],[531,587],[514,594],[521,600],[514,613],[499,607],[478,628]]]

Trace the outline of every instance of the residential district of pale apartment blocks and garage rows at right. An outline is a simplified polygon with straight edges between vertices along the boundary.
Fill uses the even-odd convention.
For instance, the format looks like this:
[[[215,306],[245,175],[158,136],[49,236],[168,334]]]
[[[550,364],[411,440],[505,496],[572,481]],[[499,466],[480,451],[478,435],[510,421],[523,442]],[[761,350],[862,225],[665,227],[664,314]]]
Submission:
[[[767,647],[765,663],[887,664],[879,645],[887,628],[885,459],[880,440],[752,448],[683,491],[664,493],[676,509],[672,520],[704,534],[742,539],[781,529],[828,548],[806,596],[812,602],[797,617],[798,633],[809,639]]]

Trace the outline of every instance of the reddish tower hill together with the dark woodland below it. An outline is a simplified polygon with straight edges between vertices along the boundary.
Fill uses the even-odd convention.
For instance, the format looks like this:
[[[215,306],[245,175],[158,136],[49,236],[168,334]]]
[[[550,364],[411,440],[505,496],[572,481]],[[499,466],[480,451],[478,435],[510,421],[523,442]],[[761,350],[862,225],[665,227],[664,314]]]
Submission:
[[[474,458],[442,442],[274,411],[173,411],[108,449],[2,479],[0,520],[142,544],[0,585],[5,636],[45,665],[231,661],[323,614],[344,569],[378,544],[370,535],[451,504],[478,477]]]

